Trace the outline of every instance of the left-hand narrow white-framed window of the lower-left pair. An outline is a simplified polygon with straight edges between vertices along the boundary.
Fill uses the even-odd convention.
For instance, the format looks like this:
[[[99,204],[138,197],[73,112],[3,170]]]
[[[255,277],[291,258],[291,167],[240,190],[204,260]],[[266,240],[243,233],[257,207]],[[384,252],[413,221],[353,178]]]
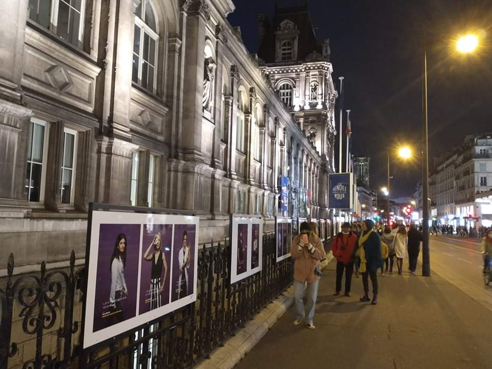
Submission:
[[[48,141],[46,122],[32,118],[29,123],[27,171],[25,186],[27,199],[40,202],[43,199],[44,176],[46,168],[46,143]]]

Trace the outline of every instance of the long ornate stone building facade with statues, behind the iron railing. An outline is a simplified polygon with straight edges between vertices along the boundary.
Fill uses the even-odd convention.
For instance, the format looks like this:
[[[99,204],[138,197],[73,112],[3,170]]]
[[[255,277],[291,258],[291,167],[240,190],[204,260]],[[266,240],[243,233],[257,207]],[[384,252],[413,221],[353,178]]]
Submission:
[[[83,257],[89,202],[191,211],[200,242],[227,236],[229,213],[273,229],[279,175],[326,216],[331,64],[299,65],[316,99],[296,92],[286,108],[232,11],[231,0],[0,2],[0,260]]]

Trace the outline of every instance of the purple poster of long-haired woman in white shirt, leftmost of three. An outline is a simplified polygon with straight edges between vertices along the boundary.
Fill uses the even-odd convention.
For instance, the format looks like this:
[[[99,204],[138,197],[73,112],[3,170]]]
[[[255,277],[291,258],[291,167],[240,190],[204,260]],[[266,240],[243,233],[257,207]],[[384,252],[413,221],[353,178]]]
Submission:
[[[100,224],[93,331],[136,315],[140,224]]]

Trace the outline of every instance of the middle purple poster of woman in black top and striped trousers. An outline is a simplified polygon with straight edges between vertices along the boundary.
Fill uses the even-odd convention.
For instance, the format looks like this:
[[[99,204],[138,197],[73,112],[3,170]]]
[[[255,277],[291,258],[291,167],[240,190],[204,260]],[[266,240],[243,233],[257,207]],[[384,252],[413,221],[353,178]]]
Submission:
[[[172,224],[145,224],[140,259],[138,314],[169,303]]]

